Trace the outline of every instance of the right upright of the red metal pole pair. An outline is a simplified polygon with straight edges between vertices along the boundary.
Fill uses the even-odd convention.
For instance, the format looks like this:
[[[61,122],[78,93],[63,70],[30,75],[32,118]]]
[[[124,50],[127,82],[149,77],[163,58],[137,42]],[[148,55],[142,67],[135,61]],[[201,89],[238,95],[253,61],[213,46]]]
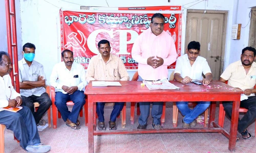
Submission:
[[[12,36],[13,36],[13,54],[14,54],[14,72],[15,72],[15,87],[19,93],[19,66],[18,66],[18,46],[17,46],[17,33],[16,33],[16,11],[15,11],[15,0],[11,0],[12,9]]]

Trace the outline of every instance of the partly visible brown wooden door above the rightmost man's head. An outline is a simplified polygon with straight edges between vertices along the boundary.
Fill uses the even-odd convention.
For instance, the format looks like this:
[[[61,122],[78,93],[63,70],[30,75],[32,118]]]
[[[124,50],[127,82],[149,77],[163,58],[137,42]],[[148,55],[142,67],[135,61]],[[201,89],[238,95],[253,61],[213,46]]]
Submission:
[[[253,13],[254,11],[254,13]],[[255,42],[256,35],[255,35],[255,27],[256,22],[253,22],[253,20],[256,20],[256,7],[251,8],[251,19],[250,19],[250,28],[249,28],[249,40],[248,40],[248,46],[252,46]],[[256,45],[256,44],[254,44]]]

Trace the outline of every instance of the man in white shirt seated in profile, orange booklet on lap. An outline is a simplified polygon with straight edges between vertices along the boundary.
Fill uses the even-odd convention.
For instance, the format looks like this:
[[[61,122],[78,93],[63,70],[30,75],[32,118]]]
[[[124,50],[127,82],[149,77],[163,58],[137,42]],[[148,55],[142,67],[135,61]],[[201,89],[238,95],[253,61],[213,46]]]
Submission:
[[[47,152],[51,149],[40,142],[37,125],[30,109],[23,106],[18,112],[3,110],[3,107],[22,105],[20,94],[17,93],[11,82],[9,73],[13,69],[10,57],[6,52],[0,52],[0,124],[12,130],[20,142],[20,146],[31,152]]]

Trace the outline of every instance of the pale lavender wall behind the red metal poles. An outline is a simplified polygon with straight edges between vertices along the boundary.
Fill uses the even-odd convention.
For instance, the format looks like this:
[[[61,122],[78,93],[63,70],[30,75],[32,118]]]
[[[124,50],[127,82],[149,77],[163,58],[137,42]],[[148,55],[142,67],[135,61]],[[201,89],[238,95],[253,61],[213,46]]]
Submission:
[[[5,1],[0,1],[0,51],[8,52],[7,49],[7,30],[6,30],[6,16],[5,16]],[[20,5],[19,0],[15,0],[16,9],[16,32],[17,32],[17,46],[18,46],[18,59],[22,58],[22,35],[21,35],[21,18],[20,18]]]

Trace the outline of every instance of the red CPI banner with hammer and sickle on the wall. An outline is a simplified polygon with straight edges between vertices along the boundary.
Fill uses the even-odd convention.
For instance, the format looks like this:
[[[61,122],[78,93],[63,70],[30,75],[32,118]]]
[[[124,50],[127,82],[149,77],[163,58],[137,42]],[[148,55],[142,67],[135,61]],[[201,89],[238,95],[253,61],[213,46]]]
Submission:
[[[123,60],[126,69],[137,69],[138,63],[131,56],[132,46],[138,35],[149,28],[152,11],[88,11],[60,10],[61,51],[72,50],[74,61],[87,69],[91,57],[99,54],[98,42],[106,39],[110,41],[111,53]],[[167,12],[162,13],[164,30],[173,37],[180,56],[182,13]],[[173,68],[175,63],[168,66],[168,69]]]

